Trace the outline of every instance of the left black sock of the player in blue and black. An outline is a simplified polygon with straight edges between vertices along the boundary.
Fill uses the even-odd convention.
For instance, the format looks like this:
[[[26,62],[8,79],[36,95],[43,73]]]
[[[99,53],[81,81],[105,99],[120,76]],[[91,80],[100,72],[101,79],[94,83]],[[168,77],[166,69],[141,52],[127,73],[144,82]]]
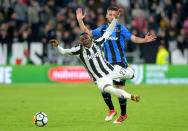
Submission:
[[[111,100],[111,95],[107,92],[102,92],[103,99],[110,110],[114,110],[114,105]]]

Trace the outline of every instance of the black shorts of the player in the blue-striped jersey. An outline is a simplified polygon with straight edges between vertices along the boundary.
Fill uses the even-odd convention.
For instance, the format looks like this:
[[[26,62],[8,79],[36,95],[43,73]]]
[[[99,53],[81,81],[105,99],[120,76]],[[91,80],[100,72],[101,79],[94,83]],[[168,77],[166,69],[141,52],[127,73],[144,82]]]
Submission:
[[[112,65],[119,65],[123,68],[127,68],[128,67],[128,64],[126,62],[114,62],[114,63],[111,63]],[[125,86],[125,82],[126,80],[120,80],[120,81],[115,81],[113,80],[113,85],[121,85],[121,86]]]

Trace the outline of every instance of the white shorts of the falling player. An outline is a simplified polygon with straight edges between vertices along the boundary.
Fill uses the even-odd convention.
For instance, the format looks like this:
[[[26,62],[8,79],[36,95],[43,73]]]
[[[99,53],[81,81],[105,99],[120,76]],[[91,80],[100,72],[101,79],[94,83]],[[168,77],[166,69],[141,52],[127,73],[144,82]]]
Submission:
[[[130,80],[134,75],[131,68],[123,68],[119,65],[114,66],[114,70],[106,77],[100,78],[96,81],[98,88],[103,91],[105,85],[113,85],[113,80]]]

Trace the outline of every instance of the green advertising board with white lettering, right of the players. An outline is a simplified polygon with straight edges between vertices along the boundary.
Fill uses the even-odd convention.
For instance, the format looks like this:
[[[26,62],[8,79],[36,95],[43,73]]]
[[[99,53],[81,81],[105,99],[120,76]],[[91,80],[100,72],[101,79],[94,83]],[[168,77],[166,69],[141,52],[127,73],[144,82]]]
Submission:
[[[134,84],[188,84],[187,65],[131,65]]]

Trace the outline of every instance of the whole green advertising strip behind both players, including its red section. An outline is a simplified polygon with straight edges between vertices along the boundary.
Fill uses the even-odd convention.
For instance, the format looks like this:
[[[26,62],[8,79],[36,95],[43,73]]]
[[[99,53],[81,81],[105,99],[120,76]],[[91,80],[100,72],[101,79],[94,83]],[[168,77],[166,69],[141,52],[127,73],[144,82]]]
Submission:
[[[133,84],[188,84],[187,65],[131,65]],[[0,66],[0,84],[11,83],[84,83],[91,78],[83,66],[27,65]]]

